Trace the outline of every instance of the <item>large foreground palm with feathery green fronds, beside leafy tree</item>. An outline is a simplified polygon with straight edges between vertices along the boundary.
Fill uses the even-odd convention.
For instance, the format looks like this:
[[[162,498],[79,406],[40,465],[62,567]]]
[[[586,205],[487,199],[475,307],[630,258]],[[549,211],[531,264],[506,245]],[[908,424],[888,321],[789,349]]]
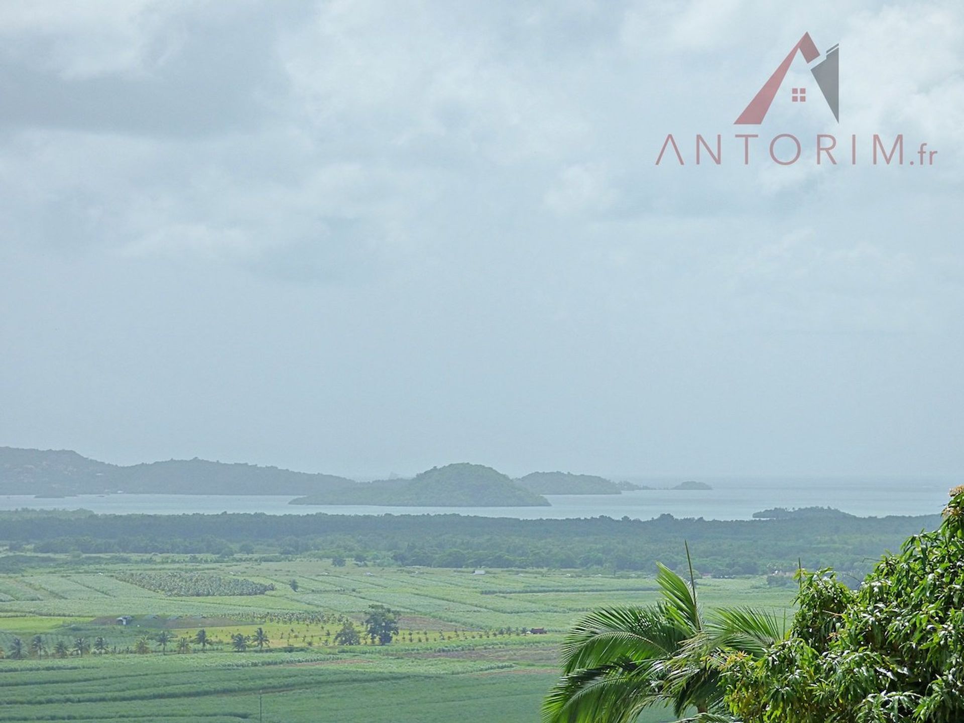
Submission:
[[[686,550],[687,559],[689,550]],[[689,720],[730,720],[720,667],[728,652],[760,655],[783,637],[776,618],[751,608],[704,617],[690,584],[663,565],[662,599],[589,613],[563,644],[563,675],[543,704],[544,723],[629,723],[670,707]]]

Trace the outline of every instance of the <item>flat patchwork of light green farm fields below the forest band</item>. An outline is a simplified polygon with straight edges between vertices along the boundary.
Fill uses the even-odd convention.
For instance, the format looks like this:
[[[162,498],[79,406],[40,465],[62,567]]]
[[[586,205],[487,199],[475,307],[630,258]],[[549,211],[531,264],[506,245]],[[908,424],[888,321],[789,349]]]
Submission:
[[[761,577],[704,578],[697,589],[707,605],[777,611],[793,594]],[[0,594],[0,722],[263,714],[278,723],[534,723],[565,629],[598,605],[652,602],[656,585],[633,575],[254,557],[145,556],[78,573],[65,557],[62,567],[0,576]],[[335,646],[338,629],[348,621],[361,629],[371,604],[398,614],[395,639]],[[235,636],[247,650],[234,652]],[[14,638],[22,659],[12,659]],[[654,713],[651,722],[665,719]]]

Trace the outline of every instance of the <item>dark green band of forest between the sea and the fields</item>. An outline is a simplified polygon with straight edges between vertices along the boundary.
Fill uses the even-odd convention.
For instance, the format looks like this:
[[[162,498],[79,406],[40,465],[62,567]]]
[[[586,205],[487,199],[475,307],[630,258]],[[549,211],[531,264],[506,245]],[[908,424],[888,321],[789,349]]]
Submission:
[[[0,512],[0,546],[32,545],[35,554],[0,556],[0,572],[64,565],[41,557],[78,551],[71,566],[112,562],[107,553],[316,552],[335,565],[353,558],[376,565],[476,568],[603,568],[656,572],[656,560],[683,570],[683,541],[704,575],[790,573],[833,567],[859,579],[882,549],[940,523],[922,517],[859,518],[834,510],[777,520],[514,520],[462,515],[94,515]],[[88,556],[90,555],[90,556]],[[122,558],[117,562],[127,562]],[[784,577],[779,578],[782,581]],[[172,591],[173,594],[179,594]],[[215,593],[218,595],[225,593]]]

